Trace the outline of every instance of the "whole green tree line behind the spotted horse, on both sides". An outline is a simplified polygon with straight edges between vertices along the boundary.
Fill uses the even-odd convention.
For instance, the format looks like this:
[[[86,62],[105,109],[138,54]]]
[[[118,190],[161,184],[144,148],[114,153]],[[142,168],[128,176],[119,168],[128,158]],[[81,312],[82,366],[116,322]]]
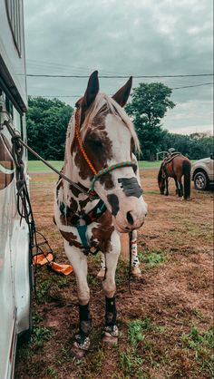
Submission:
[[[141,83],[133,89],[126,106],[141,143],[141,160],[154,160],[158,151],[171,147],[191,160],[208,157],[213,152],[213,138],[206,133],[190,135],[170,133],[161,121],[175,104],[171,90],[163,83]],[[63,160],[64,143],[73,107],[58,99],[29,97],[26,127],[28,144],[45,160]],[[29,154],[29,159],[34,157]]]

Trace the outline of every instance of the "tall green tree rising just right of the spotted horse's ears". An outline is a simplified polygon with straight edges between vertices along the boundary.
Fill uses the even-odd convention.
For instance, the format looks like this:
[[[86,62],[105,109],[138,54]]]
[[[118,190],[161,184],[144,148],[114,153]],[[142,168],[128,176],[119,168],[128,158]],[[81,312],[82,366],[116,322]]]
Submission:
[[[170,101],[171,90],[162,83],[140,83],[133,89],[126,112],[131,116],[137,131],[144,160],[154,160],[167,131],[161,129],[161,119],[175,106]]]

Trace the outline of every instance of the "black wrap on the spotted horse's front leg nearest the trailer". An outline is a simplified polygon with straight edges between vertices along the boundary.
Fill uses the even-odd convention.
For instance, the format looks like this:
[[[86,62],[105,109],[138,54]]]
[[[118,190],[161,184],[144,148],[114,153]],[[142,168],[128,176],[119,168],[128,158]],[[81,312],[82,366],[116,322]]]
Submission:
[[[92,317],[90,316],[89,304],[86,306],[79,305],[80,331],[75,335],[78,347],[88,350],[90,346],[89,335],[92,331]]]

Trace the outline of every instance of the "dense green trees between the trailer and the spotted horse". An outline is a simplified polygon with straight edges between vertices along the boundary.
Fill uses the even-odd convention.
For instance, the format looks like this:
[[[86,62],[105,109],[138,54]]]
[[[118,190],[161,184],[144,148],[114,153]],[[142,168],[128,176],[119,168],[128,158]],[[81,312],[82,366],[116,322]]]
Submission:
[[[45,160],[63,160],[66,130],[72,113],[70,105],[57,99],[29,97],[26,113],[29,146]],[[34,156],[29,154],[29,159]]]

